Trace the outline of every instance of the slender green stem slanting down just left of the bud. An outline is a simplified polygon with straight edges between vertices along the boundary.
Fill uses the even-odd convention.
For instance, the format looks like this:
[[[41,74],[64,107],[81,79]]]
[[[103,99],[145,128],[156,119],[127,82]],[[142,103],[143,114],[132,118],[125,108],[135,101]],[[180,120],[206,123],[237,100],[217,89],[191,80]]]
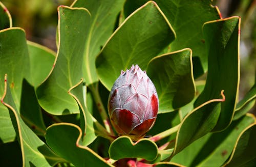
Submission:
[[[100,98],[100,95],[99,95],[98,82],[96,82],[95,84],[90,85],[89,88],[90,88],[90,90],[93,94],[93,98],[94,98],[95,103],[97,105],[99,114],[100,114],[101,119],[103,121],[103,124],[106,128],[106,131],[108,131],[111,135],[114,135],[113,129],[112,129],[111,124],[110,124],[109,117],[106,114],[106,110],[104,108],[104,105],[103,105],[103,103],[101,101],[101,98]]]

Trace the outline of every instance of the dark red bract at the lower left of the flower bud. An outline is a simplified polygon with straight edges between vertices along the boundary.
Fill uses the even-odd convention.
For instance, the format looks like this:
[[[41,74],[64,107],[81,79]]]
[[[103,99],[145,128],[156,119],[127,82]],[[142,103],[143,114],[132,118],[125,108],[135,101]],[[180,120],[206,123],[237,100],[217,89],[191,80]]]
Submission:
[[[140,124],[138,116],[126,109],[116,109],[112,115],[113,122],[126,134]],[[120,134],[120,133],[119,133]]]

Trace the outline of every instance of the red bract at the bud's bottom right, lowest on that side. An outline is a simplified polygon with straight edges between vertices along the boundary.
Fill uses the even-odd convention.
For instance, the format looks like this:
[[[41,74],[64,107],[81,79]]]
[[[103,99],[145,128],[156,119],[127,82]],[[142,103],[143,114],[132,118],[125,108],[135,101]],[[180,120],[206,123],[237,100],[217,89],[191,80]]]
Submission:
[[[155,123],[156,118],[153,119],[148,119],[144,122],[142,122],[140,125],[136,126],[133,131],[131,131],[131,134],[136,134],[136,135],[143,135],[145,134],[152,125]]]

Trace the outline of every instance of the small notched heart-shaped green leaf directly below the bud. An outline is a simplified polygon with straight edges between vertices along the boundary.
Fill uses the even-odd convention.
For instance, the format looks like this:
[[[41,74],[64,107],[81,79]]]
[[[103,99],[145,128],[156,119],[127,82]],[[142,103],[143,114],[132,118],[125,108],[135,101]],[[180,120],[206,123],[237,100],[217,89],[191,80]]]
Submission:
[[[154,160],[157,157],[157,145],[147,138],[142,138],[133,143],[130,137],[118,137],[109,148],[110,158],[118,160],[122,158],[144,158]]]

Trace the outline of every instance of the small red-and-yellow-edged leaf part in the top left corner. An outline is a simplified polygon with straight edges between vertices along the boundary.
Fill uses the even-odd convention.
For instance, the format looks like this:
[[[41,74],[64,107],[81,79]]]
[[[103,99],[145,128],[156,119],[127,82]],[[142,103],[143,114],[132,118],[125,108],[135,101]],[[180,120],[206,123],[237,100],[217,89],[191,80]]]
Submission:
[[[5,5],[0,2],[0,30],[9,27],[12,27],[12,17]]]

